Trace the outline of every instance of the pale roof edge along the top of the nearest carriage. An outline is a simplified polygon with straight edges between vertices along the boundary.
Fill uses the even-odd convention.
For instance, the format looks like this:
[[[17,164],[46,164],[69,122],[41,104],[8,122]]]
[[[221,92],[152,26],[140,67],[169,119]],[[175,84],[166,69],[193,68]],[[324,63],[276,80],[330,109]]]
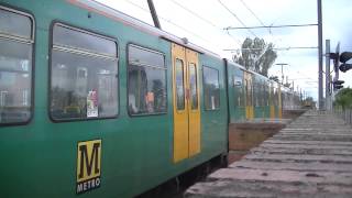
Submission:
[[[182,38],[182,37],[178,37],[176,35],[173,35],[166,31],[163,31],[163,30],[160,30],[160,29],[156,29],[155,26],[153,25],[150,25],[139,19],[135,19],[131,15],[128,15],[123,12],[120,12],[111,7],[108,7],[106,4],[102,4],[100,2],[97,2],[95,0],[67,0],[69,3],[72,4],[75,4],[75,6],[78,6],[80,8],[84,8],[88,11],[91,11],[91,12],[96,12],[98,14],[101,14],[101,15],[105,15],[107,18],[110,18],[112,20],[116,20],[116,21],[119,21],[125,25],[129,25],[129,26],[132,26],[132,28],[135,28],[140,31],[143,31],[143,32],[146,32],[148,34],[152,34],[152,35],[155,35],[155,36],[158,36],[161,38],[164,38],[164,40],[167,40],[167,41],[170,41],[170,42],[174,42],[174,43],[177,43],[179,45],[183,45],[187,48],[190,48],[190,50],[194,50],[194,51],[197,51],[201,54],[207,54],[207,55],[211,55],[213,57],[217,57],[217,58],[220,58],[220,55],[213,53],[213,52],[210,52],[204,47],[200,47],[196,44],[193,44],[193,43],[189,43],[187,38]]]

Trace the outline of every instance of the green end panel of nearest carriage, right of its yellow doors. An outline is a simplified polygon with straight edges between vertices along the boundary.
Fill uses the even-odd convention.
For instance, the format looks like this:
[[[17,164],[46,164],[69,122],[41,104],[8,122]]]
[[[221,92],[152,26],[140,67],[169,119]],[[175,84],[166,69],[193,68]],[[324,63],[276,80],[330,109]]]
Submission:
[[[210,56],[200,55],[199,64],[202,69],[202,82],[200,84],[202,94],[201,101],[201,139],[202,153],[207,157],[216,156],[226,153],[228,150],[228,106],[227,106],[227,90],[226,90],[226,69],[222,59],[217,59]],[[204,91],[208,87],[215,85],[207,84],[206,74],[218,73],[219,79],[219,99],[213,101],[212,97]],[[215,75],[216,77],[216,75]],[[216,78],[208,80],[216,81]]]

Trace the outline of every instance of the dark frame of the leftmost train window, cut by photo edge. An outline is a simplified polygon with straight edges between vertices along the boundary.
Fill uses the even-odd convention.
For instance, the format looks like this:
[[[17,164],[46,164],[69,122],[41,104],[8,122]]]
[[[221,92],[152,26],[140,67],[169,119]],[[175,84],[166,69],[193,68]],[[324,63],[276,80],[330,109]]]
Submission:
[[[16,127],[16,125],[28,125],[29,123],[31,123],[31,121],[33,120],[34,117],[34,94],[35,94],[35,85],[34,85],[34,79],[35,79],[35,18],[34,14],[25,9],[22,8],[16,8],[16,7],[12,7],[9,6],[7,3],[1,3],[0,2],[0,10],[6,10],[9,12],[13,12],[15,14],[20,14],[20,15],[24,15],[28,16],[31,21],[31,36],[30,40],[21,37],[21,36],[15,36],[15,35],[9,35],[9,34],[3,34],[0,33],[0,40],[6,40],[6,41],[13,41],[13,42],[19,42],[19,43],[23,43],[23,44],[30,44],[31,50],[32,50],[32,54],[31,54],[31,102],[30,102],[30,117],[28,120],[22,121],[22,122],[10,122],[10,123],[1,123],[0,122],[0,128],[2,127]]]

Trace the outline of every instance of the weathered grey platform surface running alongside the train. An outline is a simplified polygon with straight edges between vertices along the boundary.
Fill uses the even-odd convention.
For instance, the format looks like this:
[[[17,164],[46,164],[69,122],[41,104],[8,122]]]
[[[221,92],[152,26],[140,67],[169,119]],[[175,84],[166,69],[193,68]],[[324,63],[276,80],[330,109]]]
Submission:
[[[307,111],[184,197],[352,197],[352,129]]]

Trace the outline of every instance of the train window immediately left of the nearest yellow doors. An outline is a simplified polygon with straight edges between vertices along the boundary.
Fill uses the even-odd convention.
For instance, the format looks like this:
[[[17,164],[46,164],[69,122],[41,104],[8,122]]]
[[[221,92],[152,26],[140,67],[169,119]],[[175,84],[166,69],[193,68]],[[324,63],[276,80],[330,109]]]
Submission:
[[[164,55],[133,44],[129,52],[129,113],[166,112],[166,67]]]

